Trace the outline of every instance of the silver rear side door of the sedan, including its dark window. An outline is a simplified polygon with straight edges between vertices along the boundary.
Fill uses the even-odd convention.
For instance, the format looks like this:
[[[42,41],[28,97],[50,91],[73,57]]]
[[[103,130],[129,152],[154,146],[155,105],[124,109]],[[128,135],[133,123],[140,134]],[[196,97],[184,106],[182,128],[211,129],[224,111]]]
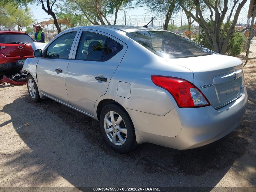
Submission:
[[[71,106],[94,114],[96,100],[107,91],[127,45],[94,30],[81,30],[65,76]]]

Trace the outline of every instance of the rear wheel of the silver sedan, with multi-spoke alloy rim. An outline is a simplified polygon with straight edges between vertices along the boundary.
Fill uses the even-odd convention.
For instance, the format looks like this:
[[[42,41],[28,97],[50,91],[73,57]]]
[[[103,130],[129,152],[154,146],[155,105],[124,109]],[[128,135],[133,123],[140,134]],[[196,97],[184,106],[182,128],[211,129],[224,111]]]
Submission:
[[[131,118],[120,106],[109,104],[102,109],[100,127],[105,141],[115,151],[126,153],[137,146]]]

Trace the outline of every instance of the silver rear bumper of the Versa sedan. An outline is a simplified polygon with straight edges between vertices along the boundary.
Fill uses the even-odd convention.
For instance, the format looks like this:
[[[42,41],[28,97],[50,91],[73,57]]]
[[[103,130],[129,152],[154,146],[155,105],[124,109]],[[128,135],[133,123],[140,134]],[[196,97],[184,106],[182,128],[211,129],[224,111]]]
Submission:
[[[170,119],[168,117],[169,113],[165,116],[158,116],[158,122],[155,122],[155,115],[148,114],[146,117],[147,127],[143,127],[145,123],[138,123],[146,121],[141,120],[141,117],[145,118],[145,116],[139,114],[142,112],[128,110],[128,113],[133,120],[135,130],[138,130],[145,142],[185,150],[212,143],[234,130],[245,113],[247,102],[248,96],[246,88],[244,88],[241,97],[217,110],[212,106],[200,108],[175,107],[169,113],[172,113],[171,116],[177,114],[175,118],[178,118],[180,124],[178,120],[173,121],[175,118]],[[168,129],[162,130],[162,122],[165,122],[165,126],[168,124]],[[177,133],[180,125],[182,128],[179,133],[176,136],[169,136],[170,132],[174,130]]]

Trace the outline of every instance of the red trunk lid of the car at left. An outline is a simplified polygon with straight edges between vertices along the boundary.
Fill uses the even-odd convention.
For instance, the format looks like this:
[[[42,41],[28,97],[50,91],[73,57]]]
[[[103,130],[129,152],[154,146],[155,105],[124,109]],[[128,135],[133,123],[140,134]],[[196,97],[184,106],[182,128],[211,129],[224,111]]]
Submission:
[[[33,56],[33,49],[30,43],[25,45],[1,43],[0,51],[6,57]]]

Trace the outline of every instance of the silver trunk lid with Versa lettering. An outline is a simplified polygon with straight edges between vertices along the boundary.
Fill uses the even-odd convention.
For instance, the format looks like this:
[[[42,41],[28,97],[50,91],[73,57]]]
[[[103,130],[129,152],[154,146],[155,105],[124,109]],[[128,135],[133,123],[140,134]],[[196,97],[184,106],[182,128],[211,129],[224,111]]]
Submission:
[[[244,89],[243,62],[231,56],[209,56],[168,59],[171,64],[186,67],[194,73],[192,82],[218,109],[241,96]]]

